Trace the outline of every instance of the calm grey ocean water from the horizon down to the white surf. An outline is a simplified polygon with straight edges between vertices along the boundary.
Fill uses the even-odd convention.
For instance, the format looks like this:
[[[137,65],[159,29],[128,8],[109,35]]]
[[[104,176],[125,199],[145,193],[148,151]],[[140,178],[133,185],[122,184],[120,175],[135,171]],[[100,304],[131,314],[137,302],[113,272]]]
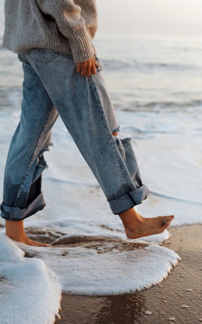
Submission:
[[[98,36],[94,43],[115,109],[201,111],[200,38],[109,35]],[[23,76],[16,54],[2,47],[0,54],[4,107],[11,94],[20,96]],[[9,106],[18,104],[9,101]]]

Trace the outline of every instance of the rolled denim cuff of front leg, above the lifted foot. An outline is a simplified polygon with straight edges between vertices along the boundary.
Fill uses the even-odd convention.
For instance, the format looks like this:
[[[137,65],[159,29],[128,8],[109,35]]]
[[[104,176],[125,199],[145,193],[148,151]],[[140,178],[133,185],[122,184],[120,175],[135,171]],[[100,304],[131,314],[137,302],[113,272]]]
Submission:
[[[129,191],[118,199],[108,201],[108,203],[110,204],[112,213],[118,215],[142,203],[142,201],[147,198],[148,194],[149,189],[143,184],[136,190]]]

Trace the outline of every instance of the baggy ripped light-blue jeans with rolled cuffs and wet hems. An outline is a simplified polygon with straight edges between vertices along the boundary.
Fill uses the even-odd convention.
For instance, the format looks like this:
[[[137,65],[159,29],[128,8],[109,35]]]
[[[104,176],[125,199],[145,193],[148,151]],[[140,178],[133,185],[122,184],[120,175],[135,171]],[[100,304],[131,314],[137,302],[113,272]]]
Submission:
[[[19,221],[44,208],[43,152],[51,145],[58,113],[112,212],[121,214],[140,204],[148,188],[142,184],[130,138],[112,135],[118,123],[99,67],[96,75],[83,77],[70,54],[32,49],[18,57],[24,70],[22,112],[6,161],[1,216]]]

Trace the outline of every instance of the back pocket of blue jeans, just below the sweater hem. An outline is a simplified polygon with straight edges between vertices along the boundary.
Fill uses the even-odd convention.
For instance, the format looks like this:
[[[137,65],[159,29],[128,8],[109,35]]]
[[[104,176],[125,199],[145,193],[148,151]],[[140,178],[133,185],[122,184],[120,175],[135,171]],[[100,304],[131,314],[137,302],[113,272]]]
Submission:
[[[49,50],[47,48],[32,48],[27,54],[33,60],[46,64],[58,56],[58,51]]]

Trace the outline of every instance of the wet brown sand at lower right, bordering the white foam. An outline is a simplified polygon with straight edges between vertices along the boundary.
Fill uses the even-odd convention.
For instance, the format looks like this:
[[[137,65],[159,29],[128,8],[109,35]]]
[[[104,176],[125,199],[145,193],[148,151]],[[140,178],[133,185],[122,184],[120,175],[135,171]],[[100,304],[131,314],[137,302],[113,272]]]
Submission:
[[[55,324],[202,323],[202,225],[169,229],[163,246],[182,261],[160,284],[114,296],[63,294]]]

